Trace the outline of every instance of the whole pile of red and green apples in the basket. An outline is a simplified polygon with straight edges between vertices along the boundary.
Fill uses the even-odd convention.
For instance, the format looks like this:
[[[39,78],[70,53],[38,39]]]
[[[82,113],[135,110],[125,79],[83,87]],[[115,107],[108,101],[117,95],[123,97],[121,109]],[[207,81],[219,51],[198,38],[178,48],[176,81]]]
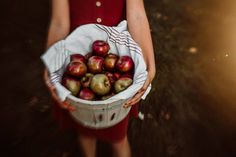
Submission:
[[[109,50],[106,41],[96,40],[87,55],[72,54],[62,85],[85,100],[105,100],[127,89],[133,83],[134,62]]]

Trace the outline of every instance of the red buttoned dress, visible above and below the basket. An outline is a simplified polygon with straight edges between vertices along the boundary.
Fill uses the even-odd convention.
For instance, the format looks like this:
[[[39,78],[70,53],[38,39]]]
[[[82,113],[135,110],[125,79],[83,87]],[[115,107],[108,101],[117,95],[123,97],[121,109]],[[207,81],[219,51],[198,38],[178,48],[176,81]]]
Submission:
[[[69,0],[71,31],[80,25],[98,23],[107,26],[116,26],[125,19],[125,0]],[[90,129],[75,122],[67,110],[55,104],[54,117],[58,120],[60,128],[77,128],[80,134],[93,136],[99,140],[116,142],[123,139],[127,133],[128,115],[120,123],[106,129]],[[137,117],[137,105],[133,106],[131,113]]]

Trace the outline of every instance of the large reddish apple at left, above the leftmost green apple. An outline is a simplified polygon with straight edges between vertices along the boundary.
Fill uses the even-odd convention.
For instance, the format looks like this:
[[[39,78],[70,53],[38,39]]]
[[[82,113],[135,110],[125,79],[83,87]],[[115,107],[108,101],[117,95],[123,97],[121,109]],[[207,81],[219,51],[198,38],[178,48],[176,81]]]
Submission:
[[[72,61],[67,65],[67,73],[76,76],[82,77],[87,72],[87,66],[80,61]]]

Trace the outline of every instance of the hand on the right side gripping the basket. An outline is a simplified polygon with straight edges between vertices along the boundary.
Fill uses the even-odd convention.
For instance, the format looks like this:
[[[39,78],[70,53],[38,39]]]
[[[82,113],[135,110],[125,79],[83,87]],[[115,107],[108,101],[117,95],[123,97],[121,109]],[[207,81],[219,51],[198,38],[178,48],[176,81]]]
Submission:
[[[143,87],[138,90],[138,92],[133,96],[132,99],[130,99],[128,102],[124,104],[124,108],[128,108],[138,103],[141,100],[143,94],[147,90],[148,86],[151,84],[154,77],[155,77],[155,72],[148,72],[148,76],[147,76],[146,81],[144,82]]]

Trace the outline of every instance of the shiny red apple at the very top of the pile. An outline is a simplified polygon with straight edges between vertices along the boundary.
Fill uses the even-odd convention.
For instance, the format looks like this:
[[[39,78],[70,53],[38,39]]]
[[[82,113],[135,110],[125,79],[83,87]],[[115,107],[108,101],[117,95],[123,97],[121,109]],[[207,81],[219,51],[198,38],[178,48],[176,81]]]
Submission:
[[[92,44],[92,49],[94,54],[105,57],[110,50],[110,46],[106,41],[96,40]]]

